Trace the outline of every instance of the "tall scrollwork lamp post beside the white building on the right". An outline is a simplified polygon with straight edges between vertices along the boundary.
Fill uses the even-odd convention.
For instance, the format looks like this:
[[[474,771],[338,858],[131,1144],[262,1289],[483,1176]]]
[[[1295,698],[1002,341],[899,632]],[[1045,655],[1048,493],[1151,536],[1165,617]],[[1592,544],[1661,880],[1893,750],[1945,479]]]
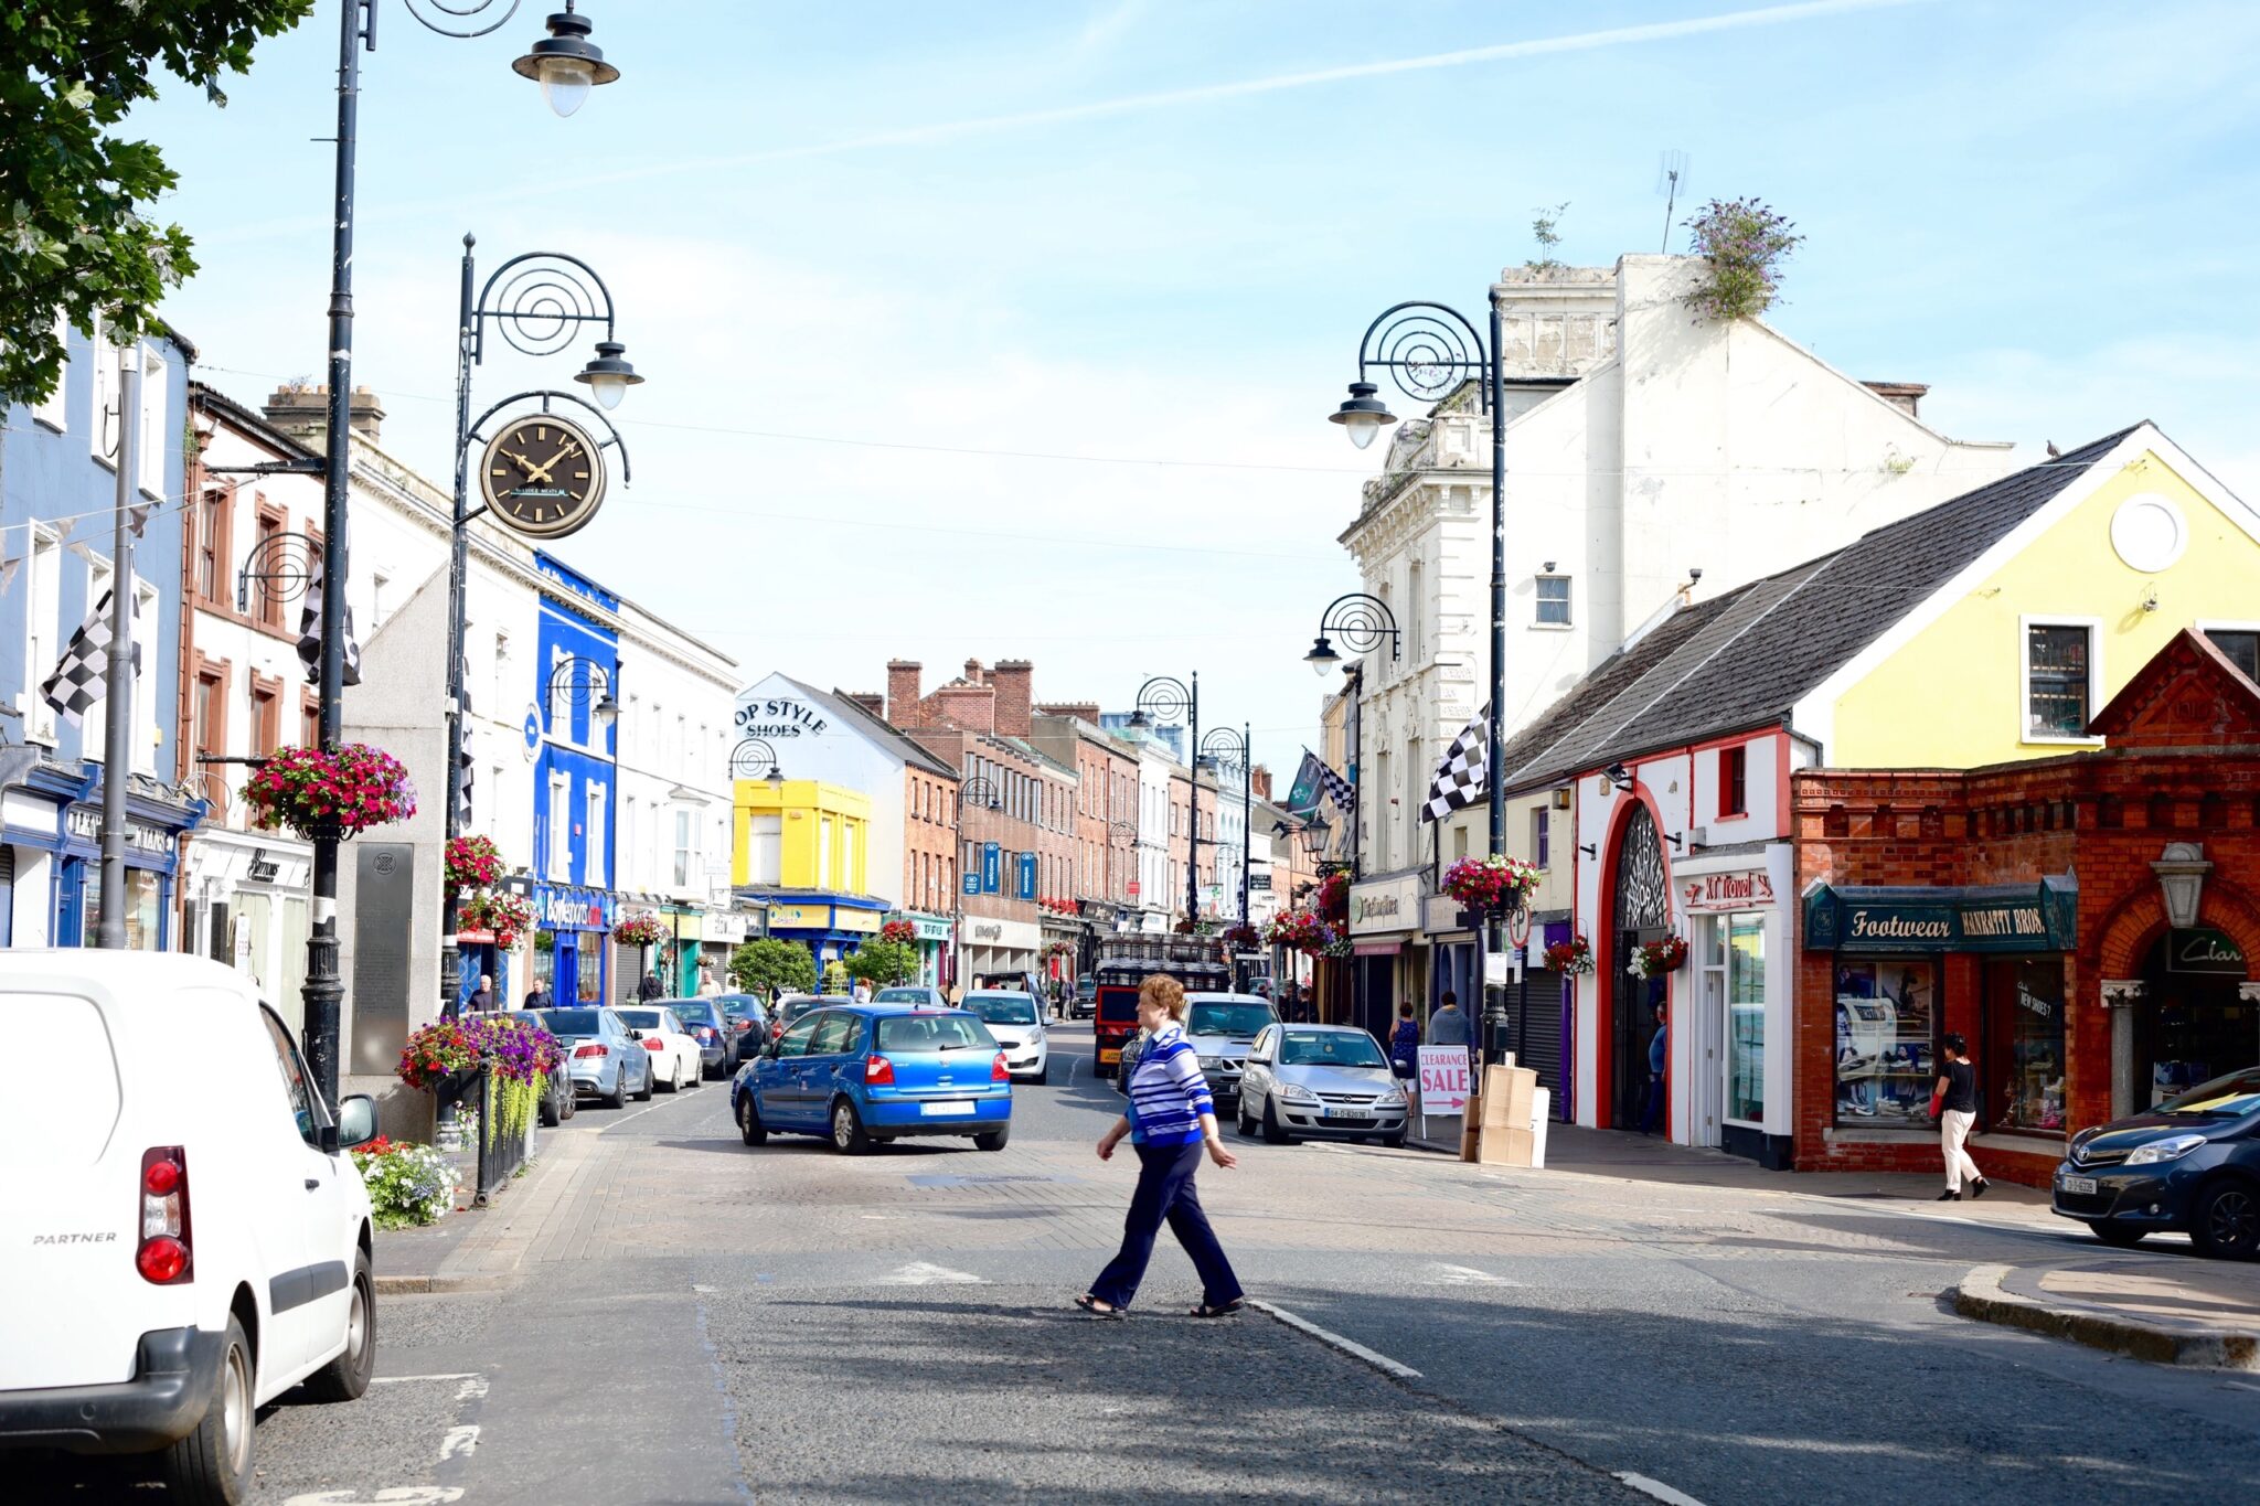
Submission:
[[[1501,391],[1501,312],[1492,289],[1489,341],[1464,314],[1444,303],[1399,303],[1381,312],[1358,341],[1358,379],[1349,400],[1329,418],[1349,431],[1365,449],[1374,434],[1397,422],[1374,393],[1370,373],[1385,370],[1406,397],[1442,402],[1464,382],[1476,382],[1483,409],[1492,415],[1492,704],[1485,713],[1485,777],[1489,802],[1489,856],[1507,851],[1507,806],[1501,790],[1501,718],[1507,704],[1507,409]],[[1507,951],[1505,921],[1498,912],[1485,919],[1485,948],[1501,957]],[[1507,1034],[1507,991],[1483,987],[1483,1059],[1498,1061]]]

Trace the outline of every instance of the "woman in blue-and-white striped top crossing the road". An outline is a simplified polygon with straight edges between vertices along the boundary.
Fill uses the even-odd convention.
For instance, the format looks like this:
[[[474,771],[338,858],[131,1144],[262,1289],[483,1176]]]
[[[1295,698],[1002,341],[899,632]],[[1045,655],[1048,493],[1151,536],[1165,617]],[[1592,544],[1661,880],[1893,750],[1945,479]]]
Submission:
[[[1225,1149],[1216,1129],[1216,1102],[1200,1075],[1200,1059],[1184,1039],[1184,984],[1164,973],[1146,978],[1137,991],[1137,1023],[1146,1032],[1146,1050],[1130,1072],[1130,1111],[1098,1136],[1101,1161],[1112,1161],[1114,1147],[1123,1136],[1130,1138],[1139,1158],[1137,1192],[1130,1194],[1130,1215],[1123,1219],[1121,1251],[1092,1289],[1076,1298],[1076,1307],[1096,1319],[1125,1316],[1166,1222],[1200,1271],[1200,1307],[1193,1307],[1193,1316],[1220,1319],[1238,1312],[1245,1298],[1216,1231],[1209,1228],[1209,1215],[1200,1210],[1193,1172],[1200,1170],[1202,1152],[1223,1170],[1238,1165],[1238,1156]]]

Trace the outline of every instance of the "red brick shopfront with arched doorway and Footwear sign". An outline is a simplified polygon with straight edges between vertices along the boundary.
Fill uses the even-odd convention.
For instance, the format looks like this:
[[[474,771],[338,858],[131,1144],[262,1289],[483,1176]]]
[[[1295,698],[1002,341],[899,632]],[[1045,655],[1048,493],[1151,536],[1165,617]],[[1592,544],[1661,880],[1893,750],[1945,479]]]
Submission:
[[[1797,774],[1799,1170],[1939,1170],[1946,1032],[1977,1063],[1971,1154],[2029,1185],[2070,1133],[2260,1061],[2260,686],[2183,632],[2088,732]]]

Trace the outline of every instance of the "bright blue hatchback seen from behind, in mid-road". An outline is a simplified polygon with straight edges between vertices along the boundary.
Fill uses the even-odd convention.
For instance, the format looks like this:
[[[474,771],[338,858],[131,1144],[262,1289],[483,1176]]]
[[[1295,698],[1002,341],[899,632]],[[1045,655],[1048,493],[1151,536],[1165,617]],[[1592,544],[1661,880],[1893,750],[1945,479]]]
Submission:
[[[859,1156],[902,1136],[972,1136],[1001,1152],[1012,1133],[1003,1050],[965,1009],[838,1005],[816,1009],[730,1079],[746,1145],[773,1133],[825,1136]]]

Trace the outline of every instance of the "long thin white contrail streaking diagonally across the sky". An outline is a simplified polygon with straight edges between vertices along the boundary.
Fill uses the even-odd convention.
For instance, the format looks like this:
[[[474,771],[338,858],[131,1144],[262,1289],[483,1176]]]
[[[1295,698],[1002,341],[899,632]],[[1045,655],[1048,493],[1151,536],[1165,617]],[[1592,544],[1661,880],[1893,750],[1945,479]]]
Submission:
[[[1252,95],[1277,95],[1293,88],[1318,88],[1327,84],[1349,84],[1354,79],[1383,79],[1399,72],[1428,72],[1437,68],[1469,68],[1474,63],[1503,63],[1510,59],[1557,56],[1566,52],[1598,52],[1602,47],[1625,47],[1638,43],[1663,43],[1681,36],[1711,36],[1715,32],[1740,32],[1747,27],[1779,27],[1853,11],[1903,9],[1907,5],[1935,5],[1935,0],[1803,0],[1799,5],[1767,5],[1754,11],[1727,11],[1724,16],[1695,16],[1688,20],[1657,20],[1638,27],[1609,27],[1605,32],[1577,32],[1575,36],[1539,36],[1519,43],[1494,43],[1489,47],[1460,47],[1458,52],[1431,52],[1424,56],[1383,59],[1376,63],[1342,63],[1340,68],[1313,68],[1306,72],[1279,72],[1263,79],[1236,79],[1229,84],[1196,84],[1189,88],[1164,88],[1146,95],[1121,95],[1116,99],[1092,99],[1085,104],[1062,104],[1046,111],[1017,111],[1012,115],[976,115],[972,120],[945,120],[924,126],[895,126],[868,135],[847,135],[829,142],[802,147],[768,147],[764,151],[741,151],[707,158],[669,158],[660,163],[637,163],[612,172],[594,172],[574,178],[576,187],[601,187],[608,183],[640,183],[649,178],[671,178],[692,172],[714,172],[719,167],[759,167],[762,163],[793,163],[802,158],[845,156],[850,151],[872,151],[879,147],[924,147],[960,135],[983,135],[997,131],[1022,131],[1028,126],[1053,126],[1076,120],[1103,120],[1107,115],[1137,115],[1186,104],[1209,104],[1216,99],[1245,99]],[[554,185],[529,185],[518,192],[459,194],[423,203],[389,205],[389,210],[364,212],[364,219],[409,214],[418,210],[443,210],[463,203],[493,205],[508,199],[536,199],[554,194]],[[328,226],[316,217],[292,217],[240,226],[233,233],[201,237],[208,244],[233,239],[260,239],[285,228]]]

